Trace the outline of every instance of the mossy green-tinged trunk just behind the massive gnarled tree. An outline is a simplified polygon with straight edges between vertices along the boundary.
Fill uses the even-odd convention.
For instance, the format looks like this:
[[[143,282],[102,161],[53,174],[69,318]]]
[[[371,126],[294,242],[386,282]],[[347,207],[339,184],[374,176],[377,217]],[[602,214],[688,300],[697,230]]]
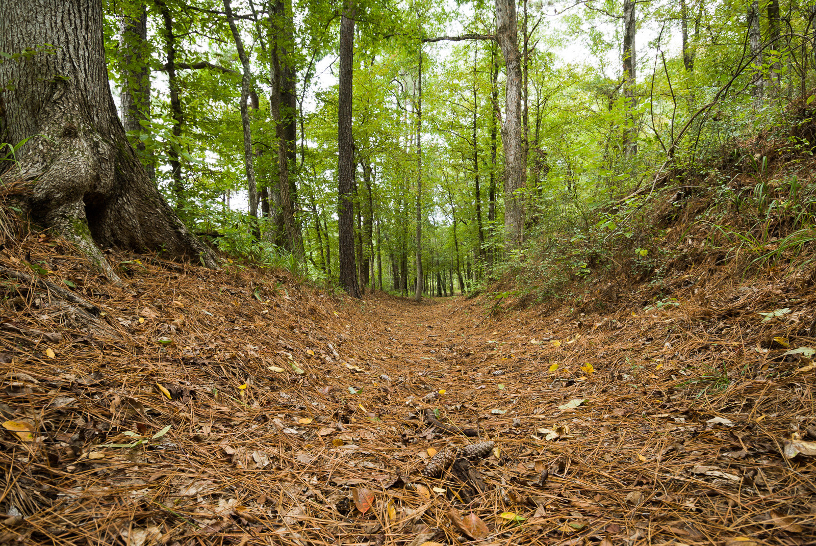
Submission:
[[[140,3],[133,7],[133,13],[127,13],[119,24],[119,51],[122,55],[122,125],[131,135],[148,132],[143,123],[150,122],[150,43],[148,42],[147,4]],[[144,145],[138,136],[133,138],[136,153],[139,155],[144,170],[150,180],[156,180],[156,166],[153,164],[153,153]]]

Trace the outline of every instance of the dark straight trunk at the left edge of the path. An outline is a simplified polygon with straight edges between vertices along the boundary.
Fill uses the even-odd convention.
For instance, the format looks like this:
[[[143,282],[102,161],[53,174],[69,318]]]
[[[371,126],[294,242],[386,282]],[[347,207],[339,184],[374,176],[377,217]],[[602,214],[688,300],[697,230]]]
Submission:
[[[340,260],[340,286],[355,298],[360,297],[357,265],[354,263],[354,149],[352,135],[352,99],[354,64],[354,7],[340,17],[340,73],[337,97],[337,238]]]

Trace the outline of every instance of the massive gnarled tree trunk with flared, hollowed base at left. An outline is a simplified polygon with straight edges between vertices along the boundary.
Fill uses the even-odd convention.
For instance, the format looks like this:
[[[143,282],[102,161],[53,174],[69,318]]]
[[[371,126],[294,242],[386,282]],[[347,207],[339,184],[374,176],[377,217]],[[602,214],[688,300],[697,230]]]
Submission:
[[[36,16],[33,16],[36,15]],[[171,258],[215,256],[167,206],[128,143],[110,94],[100,0],[3,0],[0,51],[54,44],[53,54],[0,64],[0,139],[32,137],[18,153],[20,199],[33,220],[73,240],[112,280],[100,246],[161,250]]]

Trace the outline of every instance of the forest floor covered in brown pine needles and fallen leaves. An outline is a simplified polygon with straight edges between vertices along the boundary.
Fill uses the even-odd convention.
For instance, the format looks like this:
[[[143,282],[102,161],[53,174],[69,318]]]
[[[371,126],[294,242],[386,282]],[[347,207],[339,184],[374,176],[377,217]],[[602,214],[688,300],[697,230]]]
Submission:
[[[0,544],[816,542],[796,277],[576,316],[62,244],[0,250]]]

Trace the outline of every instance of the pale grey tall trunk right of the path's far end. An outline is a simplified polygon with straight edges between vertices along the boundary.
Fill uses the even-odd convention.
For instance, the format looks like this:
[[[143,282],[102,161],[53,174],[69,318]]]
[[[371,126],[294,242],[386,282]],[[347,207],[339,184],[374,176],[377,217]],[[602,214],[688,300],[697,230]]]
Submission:
[[[502,124],[504,145],[504,236],[508,249],[520,248],[524,240],[524,149],[521,147],[521,54],[518,51],[515,0],[495,0],[496,38],[507,68],[507,87]]]

